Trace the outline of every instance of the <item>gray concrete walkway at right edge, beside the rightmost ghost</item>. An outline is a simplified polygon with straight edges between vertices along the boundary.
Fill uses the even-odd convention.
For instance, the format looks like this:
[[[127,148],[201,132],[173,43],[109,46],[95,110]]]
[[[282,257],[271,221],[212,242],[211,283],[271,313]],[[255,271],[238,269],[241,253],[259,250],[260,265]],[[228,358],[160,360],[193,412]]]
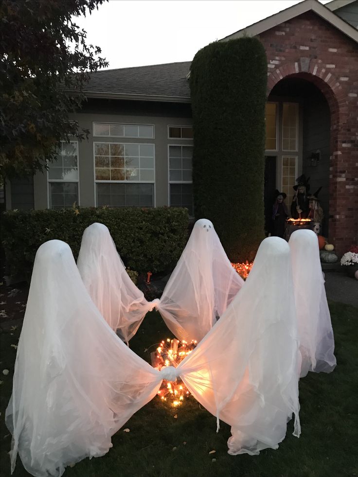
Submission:
[[[358,280],[348,277],[344,272],[325,271],[324,274],[327,298],[358,308]]]

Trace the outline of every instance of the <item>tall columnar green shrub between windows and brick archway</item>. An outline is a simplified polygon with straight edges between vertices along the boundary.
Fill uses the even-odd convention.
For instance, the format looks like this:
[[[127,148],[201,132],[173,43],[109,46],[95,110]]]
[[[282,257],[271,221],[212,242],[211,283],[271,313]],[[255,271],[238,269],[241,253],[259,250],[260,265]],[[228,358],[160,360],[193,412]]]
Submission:
[[[215,42],[191,65],[196,218],[210,219],[233,262],[264,238],[267,59],[256,38]]]

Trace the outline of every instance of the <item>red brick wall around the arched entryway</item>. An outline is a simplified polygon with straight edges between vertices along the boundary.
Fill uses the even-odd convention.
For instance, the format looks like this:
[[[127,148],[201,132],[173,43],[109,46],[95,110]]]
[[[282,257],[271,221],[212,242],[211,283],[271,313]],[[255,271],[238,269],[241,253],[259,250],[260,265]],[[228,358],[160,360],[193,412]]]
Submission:
[[[259,35],[268,94],[296,76],[321,89],[331,112],[329,230],[339,254],[358,243],[358,44],[313,12]]]

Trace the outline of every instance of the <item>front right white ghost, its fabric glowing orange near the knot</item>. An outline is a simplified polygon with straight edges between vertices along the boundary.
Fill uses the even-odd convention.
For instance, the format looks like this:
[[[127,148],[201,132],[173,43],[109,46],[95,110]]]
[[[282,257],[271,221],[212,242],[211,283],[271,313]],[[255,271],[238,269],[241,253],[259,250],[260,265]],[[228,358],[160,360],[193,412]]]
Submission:
[[[240,293],[176,371],[202,406],[232,426],[229,454],[254,455],[278,447],[292,414],[300,435],[299,367],[289,247],[269,237]]]

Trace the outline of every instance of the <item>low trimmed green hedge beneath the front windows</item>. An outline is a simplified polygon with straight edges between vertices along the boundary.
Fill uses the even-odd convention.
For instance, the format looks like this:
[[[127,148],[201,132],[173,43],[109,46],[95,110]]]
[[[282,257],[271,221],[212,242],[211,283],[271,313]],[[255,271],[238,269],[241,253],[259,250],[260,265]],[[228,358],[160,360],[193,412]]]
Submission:
[[[126,266],[138,272],[167,272],[176,265],[185,247],[187,209],[78,208],[8,211],[2,214],[5,273],[29,279],[37,248],[48,240],[68,243],[73,255],[81,246],[82,233],[90,224],[105,224]]]

